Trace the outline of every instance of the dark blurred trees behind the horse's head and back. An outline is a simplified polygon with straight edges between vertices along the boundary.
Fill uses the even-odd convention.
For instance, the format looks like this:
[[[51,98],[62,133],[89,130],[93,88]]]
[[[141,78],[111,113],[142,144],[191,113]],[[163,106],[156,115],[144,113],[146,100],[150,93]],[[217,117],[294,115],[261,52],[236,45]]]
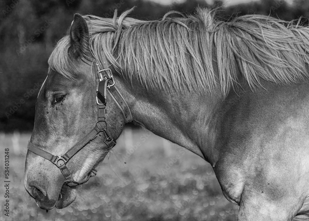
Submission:
[[[47,74],[47,60],[56,42],[66,34],[74,13],[112,17],[137,6],[130,15],[138,19],[162,18],[169,10],[192,13],[200,6],[219,7],[188,0],[163,6],[147,0],[0,0],[0,131],[30,131],[33,127],[36,96]],[[265,14],[287,21],[309,17],[309,1],[260,0],[222,7],[220,19],[236,15]],[[307,18],[302,23],[308,24]]]

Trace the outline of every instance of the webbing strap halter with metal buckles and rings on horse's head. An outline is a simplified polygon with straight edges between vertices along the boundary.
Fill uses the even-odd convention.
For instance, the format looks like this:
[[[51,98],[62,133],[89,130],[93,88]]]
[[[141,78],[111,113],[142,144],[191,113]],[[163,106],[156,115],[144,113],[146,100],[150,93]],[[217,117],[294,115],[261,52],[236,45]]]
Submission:
[[[119,90],[115,86],[115,81],[111,69],[108,68],[100,70],[98,63],[95,63],[95,72],[97,73],[95,74],[95,82],[97,84],[96,103],[98,105],[98,120],[95,123],[95,127],[85,137],[83,137],[73,147],[71,147],[70,150],[68,150],[65,154],[57,156],[52,155],[31,142],[28,143],[27,147],[29,151],[35,153],[36,155],[44,157],[45,159],[48,159],[53,164],[55,164],[66,178],[66,181],[64,183],[66,183],[66,185],[68,185],[69,187],[75,187],[77,185],[86,183],[90,179],[90,177],[96,175],[101,164],[101,162],[97,163],[96,166],[92,168],[92,170],[88,173],[87,177],[84,180],[79,182],[75,181],[66,164],[78,151],[83,149],[89,142],[91,142],[98,135],[100,135],[100,133],[104,135],[104,143],[107,145],[108,149],[111,149],[116,145],[116,141],[114,141],[114,139],[112,139],[112,137],[107,132],[107,123],[105,121],[107,92],[111,95],[113,101],[120,108],[124,116],[125,123],[129,123],[132,121],[132,115],[129,106],[127,105]],[[118,102],[119,100],[121,102]]]

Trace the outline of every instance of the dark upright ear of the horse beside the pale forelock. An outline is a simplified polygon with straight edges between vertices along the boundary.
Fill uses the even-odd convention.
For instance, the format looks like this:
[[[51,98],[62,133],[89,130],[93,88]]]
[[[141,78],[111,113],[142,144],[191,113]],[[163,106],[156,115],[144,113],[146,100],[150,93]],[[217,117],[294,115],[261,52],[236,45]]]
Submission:
[[[71,45],[69,53],[75,58],[87,54],[88,26],[86,20],[80,14],[74,14],[74,20],[70,27]]]

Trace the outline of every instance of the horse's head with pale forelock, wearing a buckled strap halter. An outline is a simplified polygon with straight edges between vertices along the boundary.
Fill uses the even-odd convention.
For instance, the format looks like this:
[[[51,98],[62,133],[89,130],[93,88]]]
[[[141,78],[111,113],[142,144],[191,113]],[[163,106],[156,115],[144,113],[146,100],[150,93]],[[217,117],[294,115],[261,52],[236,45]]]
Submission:
[[[117,89],[106,99],[107,88],[119,80],[91,57],[88,34],[86,20],[75,14],[49,58],[37,97],[25,188],[42,209],[64,208],[75,200],[78,185],[95,174],[130,119],[125,101],[112,101],[122,98]]]

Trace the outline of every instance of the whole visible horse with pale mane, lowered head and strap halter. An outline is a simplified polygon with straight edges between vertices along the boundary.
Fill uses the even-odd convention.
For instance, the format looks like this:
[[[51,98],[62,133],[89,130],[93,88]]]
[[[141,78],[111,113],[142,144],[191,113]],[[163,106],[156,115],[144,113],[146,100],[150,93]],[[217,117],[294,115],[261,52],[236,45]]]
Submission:
[[[208,161],[238,220],[309,220],[309,28],[131,10],[75,14],[49,58],[25,168],[37,205],[70,205],[133,122]]]

